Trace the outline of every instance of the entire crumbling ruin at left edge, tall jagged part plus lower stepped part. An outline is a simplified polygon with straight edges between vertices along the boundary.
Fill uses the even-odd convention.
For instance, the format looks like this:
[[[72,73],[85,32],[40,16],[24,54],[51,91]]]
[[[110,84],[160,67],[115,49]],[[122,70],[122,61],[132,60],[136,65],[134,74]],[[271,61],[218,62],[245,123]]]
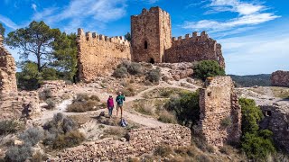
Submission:
[[[23,103],[32,103],[31,117],[41,115],[37,92],[18,92],[16,66],[12,55],[4,48],[0,35],[0,120],[19,119]]]

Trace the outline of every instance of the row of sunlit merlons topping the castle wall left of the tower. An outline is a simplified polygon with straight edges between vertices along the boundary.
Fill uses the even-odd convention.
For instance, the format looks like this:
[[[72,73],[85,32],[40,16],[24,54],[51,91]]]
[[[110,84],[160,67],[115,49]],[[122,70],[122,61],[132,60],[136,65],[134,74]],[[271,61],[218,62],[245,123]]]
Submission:
[[[87,40],[87,41],[107,41],[112,42],[120,45],[130,46],[130,42],[128,40],[125,40],[124,36],[116,36],[116,37],[108,37],[102,34],[99,34],[97,32],[84,32],[83,29],[78,29],[78,36],[79,40]]]

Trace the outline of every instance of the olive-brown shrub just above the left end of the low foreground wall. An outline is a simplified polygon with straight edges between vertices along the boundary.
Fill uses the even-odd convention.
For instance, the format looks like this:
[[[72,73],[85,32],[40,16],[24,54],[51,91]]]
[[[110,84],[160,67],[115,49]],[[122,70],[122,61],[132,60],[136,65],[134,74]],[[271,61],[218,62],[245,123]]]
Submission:
[[[72,130],[66,134],[59,135],[53,141],[53,148],[61,149],[78,146],[84,139],[84,135],[81,132]]]

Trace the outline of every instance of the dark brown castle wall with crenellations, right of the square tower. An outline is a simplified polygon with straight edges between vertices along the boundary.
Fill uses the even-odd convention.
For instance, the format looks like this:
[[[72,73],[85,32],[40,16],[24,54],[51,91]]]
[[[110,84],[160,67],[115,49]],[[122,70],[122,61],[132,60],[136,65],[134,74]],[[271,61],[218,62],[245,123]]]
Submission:
[[[222,56],[221,45],[216,40],[209,38],[205,31],[200,36],[193,32],[192,37],[186,34],[185,38],[172,38],[172,48],[166,49],[165,62],[193,62],[200,60],[216,60],[225,68],[225,60]]]

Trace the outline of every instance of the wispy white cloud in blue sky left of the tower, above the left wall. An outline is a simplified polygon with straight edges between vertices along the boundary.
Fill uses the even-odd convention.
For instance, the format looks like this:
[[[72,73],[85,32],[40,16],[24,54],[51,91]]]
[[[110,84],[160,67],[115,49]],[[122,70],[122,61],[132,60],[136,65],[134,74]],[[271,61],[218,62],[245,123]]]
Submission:
[[[76,31],[79,27],[91,26],[89,23],[103,26],[100,23],[115,21],[125,15],[126,0],[72,0],[62,8],[46,8],[35,13],[33,20],[43,20],[50,25],[65,21],[65,31]]]

